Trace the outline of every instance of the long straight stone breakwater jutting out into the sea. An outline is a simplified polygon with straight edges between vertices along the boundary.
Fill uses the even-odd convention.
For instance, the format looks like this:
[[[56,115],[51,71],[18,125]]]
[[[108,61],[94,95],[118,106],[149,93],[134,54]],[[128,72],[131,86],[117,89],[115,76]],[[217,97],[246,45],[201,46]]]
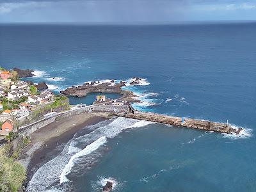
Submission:
[[[136,111],[135,113],[115,113],[116,116],[124,116],[126,118],[134,118],[138,120],[147,120],[166,125],[175,125],[179,127],[188,127],[193,129],[201,129],[204,131],[223,132],[228,134],[239,134],[243,129],[233,129],[228,124],[210,122],[207,120],[195,120],[191,118],[181,118],[177,116],[160,115],[157,113],[146,113]]]

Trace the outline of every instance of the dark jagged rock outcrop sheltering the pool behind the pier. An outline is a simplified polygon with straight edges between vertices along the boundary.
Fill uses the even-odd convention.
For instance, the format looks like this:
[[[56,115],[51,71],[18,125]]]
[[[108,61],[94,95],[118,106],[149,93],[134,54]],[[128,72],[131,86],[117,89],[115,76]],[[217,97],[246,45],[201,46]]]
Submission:
[[[140,84],[140,78],[134,77],[133,81],[129,84],[135,85]],[[74,97],[85,97],[88,93],[118,93],[122,95],[118,100],[126,100],[127,102],[141,102],[136,99],[136,95],[128,90],[122,90],[122,87],[126,86],[126,82],[120,81],[115,83],[115,80],[107,83],[100,83],[100,81],[92,81],[91,83],[84,83],[79,86],[72,86],[66,90],[61,91],[63,95],[74,96]]]

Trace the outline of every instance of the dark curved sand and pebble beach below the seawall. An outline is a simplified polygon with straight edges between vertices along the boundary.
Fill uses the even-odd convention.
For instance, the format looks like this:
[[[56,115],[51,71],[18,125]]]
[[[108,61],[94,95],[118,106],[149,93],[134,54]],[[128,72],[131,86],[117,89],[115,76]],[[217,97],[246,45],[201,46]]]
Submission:
[[[106,113],[83,113],[57,120],[33,132],[31,142],[22,149],[19,158],[19,163],[27,170],[24,186],[42,165],[62,152],[77,131],[108,119]]]

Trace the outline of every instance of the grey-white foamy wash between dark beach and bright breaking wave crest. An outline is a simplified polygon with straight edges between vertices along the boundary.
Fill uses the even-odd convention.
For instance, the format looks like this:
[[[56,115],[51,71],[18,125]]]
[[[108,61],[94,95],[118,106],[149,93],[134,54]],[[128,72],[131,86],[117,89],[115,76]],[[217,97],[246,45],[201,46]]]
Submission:
[[[106,122],[108,124],[106,124]],[[37,170],[37,172],[33,175],[33,178],[28,184],[27,191],[46,191],[47,189],[50,189],[50,188],[51,189],[63,188],[63,185],[68,186],[69,182],[62,182],[60,184],[60,176],[61,174],[65,175],[63,173],[63,170],[65,169],[66,165],[70,162],[70,159],[72,158],[72,156],[77,154],[77,152],[83,151],[81,150],[81,148],[84,148],[85,150],[86,146],[99,140],[102,137],[114,138],[124,129],[129,129],[132,127],[134,128],[143,127],[145,125],[152,124],[152,123],[153,122],[118,117],[118,118],[113,118],[112,120],[106,120],[104,122],[100,122],[99,124],[84,127],[84,129],[91,129],[94,131],[90,132],[89,134],[78,136],[77,138],[74,138],[68,141],[67,145],[63,149],[63,152],[61,152],[59,156],[45,163],[41,168]],[[103,141],[103,138],[100,140]],[[90,153],[88,153],[87,156],[90,156]],[[95,160],[92,160],[92,161],[95,161]],[[72,172],[74,167],[71,166],[71,168],[72,169],[70,169],[70,172]]]

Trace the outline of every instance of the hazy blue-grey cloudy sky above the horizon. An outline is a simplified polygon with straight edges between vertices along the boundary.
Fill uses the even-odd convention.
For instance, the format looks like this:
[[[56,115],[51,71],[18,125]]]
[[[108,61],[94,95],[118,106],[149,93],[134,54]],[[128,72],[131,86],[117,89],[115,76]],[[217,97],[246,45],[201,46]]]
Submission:
[[[0,22],[256,20],[256,0],[0,0]]]

